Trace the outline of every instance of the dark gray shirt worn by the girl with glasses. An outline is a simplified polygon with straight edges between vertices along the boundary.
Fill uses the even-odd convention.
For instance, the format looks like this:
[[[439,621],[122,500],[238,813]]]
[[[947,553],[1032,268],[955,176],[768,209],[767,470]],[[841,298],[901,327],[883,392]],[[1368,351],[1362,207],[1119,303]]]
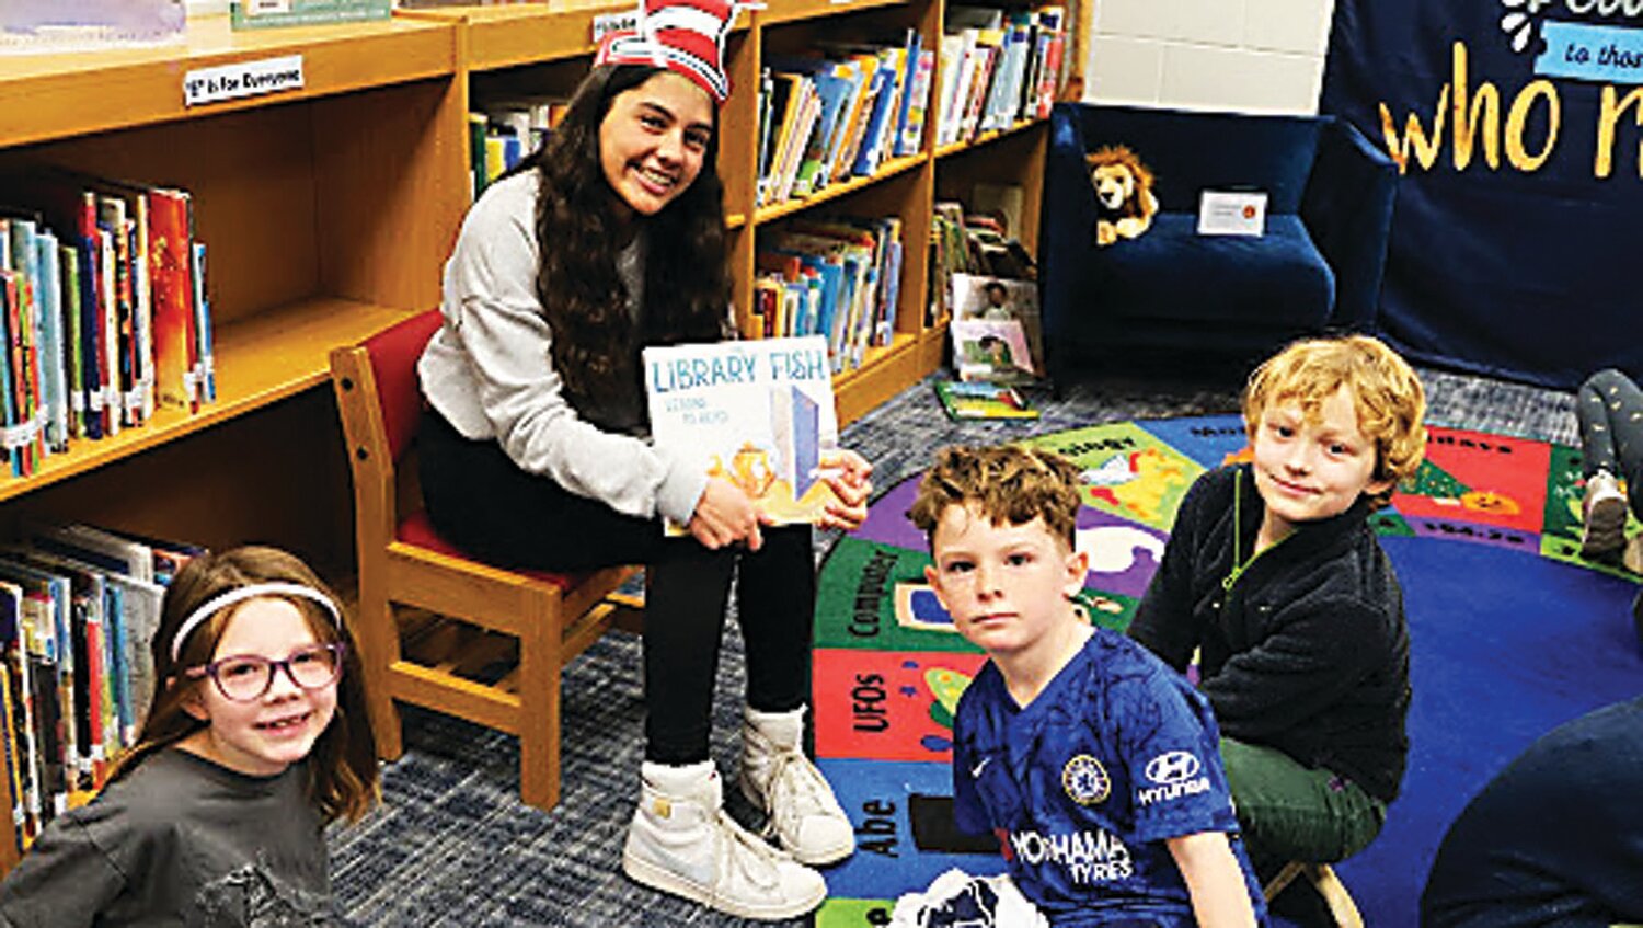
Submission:
[[[58,816],[0,884],[7,928],[329,920],[306,765],[248,777],[176,747]]]

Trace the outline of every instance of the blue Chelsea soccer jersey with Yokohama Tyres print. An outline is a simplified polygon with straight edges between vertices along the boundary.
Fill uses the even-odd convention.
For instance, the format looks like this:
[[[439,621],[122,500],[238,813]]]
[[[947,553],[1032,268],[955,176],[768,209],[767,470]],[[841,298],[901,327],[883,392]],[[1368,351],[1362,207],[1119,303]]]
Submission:
[[[1096,629],[1029,705],[989,662],[953,724],[958,826],[994,831],[1053,925],[1193,925],[1165,839],[1237,831],[1209,703],[1132,641]],[[1265,907],[1232,841],[1257,913]]]

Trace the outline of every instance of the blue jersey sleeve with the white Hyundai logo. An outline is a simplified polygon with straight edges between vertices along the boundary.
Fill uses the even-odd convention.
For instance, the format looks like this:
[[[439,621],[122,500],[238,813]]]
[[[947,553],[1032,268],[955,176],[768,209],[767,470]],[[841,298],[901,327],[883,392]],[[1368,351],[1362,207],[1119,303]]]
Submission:
[[[1171,675],[1158,668],[1125,682],[1130,711],[1119,746],[1134,792],[1135,838],[1237,831],[1209,705]]]

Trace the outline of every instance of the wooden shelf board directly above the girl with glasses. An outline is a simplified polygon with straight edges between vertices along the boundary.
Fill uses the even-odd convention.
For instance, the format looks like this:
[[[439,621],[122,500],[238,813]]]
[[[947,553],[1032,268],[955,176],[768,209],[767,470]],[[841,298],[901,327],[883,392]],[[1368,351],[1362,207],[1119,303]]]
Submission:
[[[360,342],[411,314],[322,297],[261,312],[215,335],[217,402],[187,414],[159,409],[141,427],[102,440],[74,440],[48,457],[33,476],[0,480],[0,501],[237,419],[317,386],[330,376],[330,350]]]

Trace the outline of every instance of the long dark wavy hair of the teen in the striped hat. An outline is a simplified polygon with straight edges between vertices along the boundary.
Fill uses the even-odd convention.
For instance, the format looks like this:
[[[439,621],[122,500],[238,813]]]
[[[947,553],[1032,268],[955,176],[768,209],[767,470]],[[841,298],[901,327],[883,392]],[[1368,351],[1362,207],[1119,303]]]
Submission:
[[[695,182],[656,215],[639,217],[649,237],[642,332],[634,332],[628,291],[616,274],[618,194],[600,161],[600,123],[618,94],[660,71],[626,64],[595,67],[547,145],[521,166],[541,174],[536,292],[554,333],[554,368],[577,409],[587,409],[591,396],[631,391],[639,383],[641,345],[716,342],[723,335],[729,276],[725,187],[716,169],[716,107]]]

